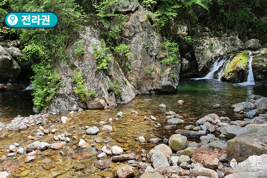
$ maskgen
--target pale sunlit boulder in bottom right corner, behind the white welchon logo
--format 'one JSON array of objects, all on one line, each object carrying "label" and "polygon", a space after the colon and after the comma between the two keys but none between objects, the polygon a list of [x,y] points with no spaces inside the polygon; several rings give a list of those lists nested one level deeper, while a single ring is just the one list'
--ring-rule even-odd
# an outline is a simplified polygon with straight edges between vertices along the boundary
[{"label": "pale sunlit boulder in bottom right corner, behind the white welchon logo", "polygon": [[233,174],[225,178],[263,178],[267,175],[267,155],[252,155],[241,163],[238,163]]}]

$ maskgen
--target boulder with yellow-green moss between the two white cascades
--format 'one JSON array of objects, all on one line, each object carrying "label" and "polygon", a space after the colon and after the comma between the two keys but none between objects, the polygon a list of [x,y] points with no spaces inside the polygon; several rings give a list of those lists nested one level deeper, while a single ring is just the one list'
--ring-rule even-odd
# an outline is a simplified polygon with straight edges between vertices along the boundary
[{"label": "boulder with yellow-green moss between the two white cascades", "polygon": [[[245,82],[249,72],[249,51],[235,54],[222,76],[222,81],[233,83]],[[225,67],[227,64],[225,64]]]}]

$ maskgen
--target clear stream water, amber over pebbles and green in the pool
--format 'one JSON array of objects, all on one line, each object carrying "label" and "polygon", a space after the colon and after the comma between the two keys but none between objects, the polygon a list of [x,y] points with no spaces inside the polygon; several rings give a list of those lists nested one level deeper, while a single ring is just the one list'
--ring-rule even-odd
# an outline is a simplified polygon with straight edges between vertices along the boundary
[{"label": "clear stream water, amber over pebbles and green in the pool", "polygon": [[[53,135],[59,135],[68,132],[78,137],[75,140],[71,137],[71,142],[67,143],[62,149],[66,154],[61,156],[59,150],[38,151],[38,155],[34,161],[24,163],[25,153],[8,157],[1,161],[0,171],[10,171],[13,177],[57,177],[57,178],[76,178],[90,177],[102,178],[112,177],[112,172],[121,167],[121,164],[111,163],[106,169],[96,169],[95,162],[99,159],[97,155],[104,145],[117,145],[123,148],[124,154],[141,153],[144,149],[147,153],[155,144],[140,143],[136,138],[144,136],[148,141],[150,138],[169,138],[174,134],[175,130],[163,130],[156,127],[157,123],[161,126],[168,125],[165,112],[174,111],[184,117],[185,123],[179,125],[179,129],[186,125],[195,125],[198,118],[205,115],[216,113],[219,116],[229,117],[231,120],[242,120],[242,115],[236,115],[231,109],[231,105],[244,101],[250,94],[258,94],[266,96],[266,87],[256,85],[239,85],[228,82],[221,82],[214,79],[202,80],[180,80],[178,91],[173,94],[162,95],[140,95],[137,96],[129,104],[119,106],[114,109],[107,110],[85,110],[81,113],[74,112],[70,115],[68,112],[62,112],[59,115],[51,116],[51,120],[60,120],[65,115],[71,118],[71,123],[66,125],[45,125],[45,129],[52,130],[58,128],[56,134],[45,135],[40,139],[41,142],[55,143]],[[32,101],[29,91],[23,92],[6,92],[0,94],[0,122],[9,123],[17,115],[29,116],[32,112]],[[185,103],[178,104],[177,101],[182,99]],[[161,103],[166,104],[166,109],[158,107]],[[212,109],[214,104],[220,104],[219,109]],[[131,114],[131,111],[137,111],[139,115]],[[117,117],[117,113],[122,111],[123,117],[113,120],[109,123],[110,117]],[[223,112],[225,113],[223,113]],[[153,115],[158,121],[146,121],[144,116]],[[111,125],[114,128],[112,133],[104,133],[101,131],[103,124]],[[85,126],[97,126],[100,131],[97,135],[86,135]],[[34,142],[29,140],[29,135],[34,136],[34,132],[38,126],[30,127],[26,131],[6,132],[7,139],[0,141],[0,157],[7,155],[7,149],[13,142],[17,142],[21,147],[26,147]],[[0,135],[3,132],[0,131]],[[125,142],[119,143],[116,138],[123,139]],[[78,147],[79,139],[84,139],[89,148],[81,149]],[[188,139],[194,141],[193,139]],[[197,140],[196,140],[197,141]],[[110,160],[112,156],[108,156]],[[124,163],[124,162],[122,162]]]}]

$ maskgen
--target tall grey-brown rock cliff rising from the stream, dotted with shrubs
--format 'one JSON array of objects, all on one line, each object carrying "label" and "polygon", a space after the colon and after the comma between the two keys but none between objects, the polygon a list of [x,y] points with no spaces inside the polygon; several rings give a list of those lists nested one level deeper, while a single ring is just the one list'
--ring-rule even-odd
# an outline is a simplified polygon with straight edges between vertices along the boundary
[{"label": "tall grey-brown rock cliff rising from the stream, dotted with shrubs", "polygon": [[[133,55],[127,58],[123,55],[115,56],[107,50],[106,53],[112,54],[114,59],[107,66],[108,69],[96,71],[97,56],[93,54],[93,45],[101,44],[100,30],[97,26],[85,26],[80,32],[80,39],[77,39],[85,41],[85,54],[75,55],[77,46],[73,42],[66,50],[67,62],[55,61],[57,74],[62,76],[61,83],[64,85],[60,87],[60,93],[48,102],[48,110],[103,109],[127,104],[137,94],[175,91],[180,64],[160,63],[168,57],[168,52],[163,51],[161,36],[147,20],[147,12],[140,9],[131,14],[125,23],[124,35],[128,39],[124,38],[122,43],[130,46]],[[125,68],[126,61],[131,66],[131,72]],[[95,91],[95,97],[87,97],[85,102],[74,92],[72,74],[76,68],[82,71],[86,87]],[[122,90],[121,94],[115,94],[111,84]]]}]

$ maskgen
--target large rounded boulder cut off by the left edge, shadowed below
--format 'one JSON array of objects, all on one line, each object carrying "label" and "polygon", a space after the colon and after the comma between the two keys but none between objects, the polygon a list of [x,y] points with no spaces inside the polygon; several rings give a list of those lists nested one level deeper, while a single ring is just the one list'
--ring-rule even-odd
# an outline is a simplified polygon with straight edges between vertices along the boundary
[{"label": "large rounded boulder cut off by the left edge, shadowed below", "polygon": [[3,78],[15,78],[20,74],[20,66],[11,55],[0,46],[0,75]]}]

